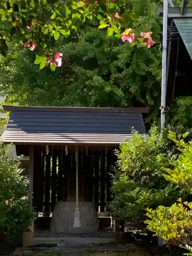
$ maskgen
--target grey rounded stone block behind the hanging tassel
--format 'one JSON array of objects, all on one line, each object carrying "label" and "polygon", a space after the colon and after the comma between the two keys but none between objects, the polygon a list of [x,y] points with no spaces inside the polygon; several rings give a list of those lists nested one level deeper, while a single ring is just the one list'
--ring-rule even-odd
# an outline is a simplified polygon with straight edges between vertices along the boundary
[{"label": "grey rounded stone block behind the hanging tassel", "polygon": [[89,233],[99,228],[99,220],[94,202],[79,202],[81,227],[74,228],[75,202],[56,203],[50,225],[53,233]]}]

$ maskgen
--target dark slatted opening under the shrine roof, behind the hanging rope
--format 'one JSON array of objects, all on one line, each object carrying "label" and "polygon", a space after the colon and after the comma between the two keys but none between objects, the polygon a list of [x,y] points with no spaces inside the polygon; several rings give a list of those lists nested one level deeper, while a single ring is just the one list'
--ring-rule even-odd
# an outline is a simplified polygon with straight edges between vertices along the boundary
[{"label": "dark slatted opening under the shrine roof, behind the hanging rope", "polygon": [[[112,200],[112,165],[115,148],[79,147],[79,201],[95,202],[108,211]],[[57,201],[75,202],[75,149],[68,146],[34,146],[33,206],[38,216],[49,217]]]}]

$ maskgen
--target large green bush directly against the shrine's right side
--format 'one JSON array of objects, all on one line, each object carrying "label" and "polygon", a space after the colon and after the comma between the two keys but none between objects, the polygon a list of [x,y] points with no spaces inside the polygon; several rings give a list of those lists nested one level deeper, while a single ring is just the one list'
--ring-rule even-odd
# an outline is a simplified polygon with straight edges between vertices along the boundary
[{"label": "large green bush directly against the shrine's right side", "polygon": [[111,209],[115,215],[143,223],[147,207],[169,206],[180,195],[178,186],[164,177],[163,169],[171,168],[175,161],[173,150],[167,150],[167,146],[167,138],[157,127],[146,138],[134,132],[132,140],[120,144],[112,186]]}]

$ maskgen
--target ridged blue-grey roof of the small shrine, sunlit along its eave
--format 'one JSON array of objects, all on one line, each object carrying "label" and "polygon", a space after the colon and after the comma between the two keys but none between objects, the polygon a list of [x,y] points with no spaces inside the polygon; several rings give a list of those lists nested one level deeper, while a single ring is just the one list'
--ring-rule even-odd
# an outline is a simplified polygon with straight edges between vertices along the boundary
[{"label": "ridged blue-grey roof of the small shrine, sunlit along its eave", "polygon": [[4,143],[40,145],[118,145],[145,136],[147,108],[77,108],[3,105],[10,111]]}]

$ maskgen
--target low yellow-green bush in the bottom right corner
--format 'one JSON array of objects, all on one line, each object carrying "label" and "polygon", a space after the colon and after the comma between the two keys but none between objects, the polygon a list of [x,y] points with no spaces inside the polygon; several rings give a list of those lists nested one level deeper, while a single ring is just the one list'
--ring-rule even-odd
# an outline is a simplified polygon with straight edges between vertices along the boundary
[{"label": "low yellow-green bush in the bottom right corner", "polygon": [[[185,205],[186,204],[186,205]],[[187,203],[175,203],[170,207],[159,206],[156,210],[147,209],[148,229],[154,231],[164,241],[178,246],[192,246],[192,212]],[[188,205],[191,208],[191,205]]]}]

